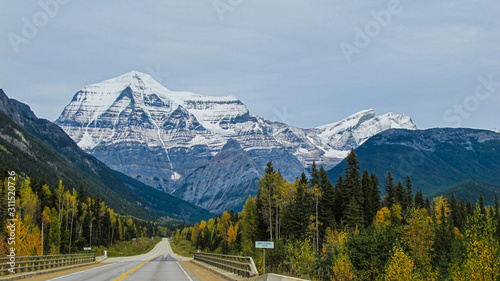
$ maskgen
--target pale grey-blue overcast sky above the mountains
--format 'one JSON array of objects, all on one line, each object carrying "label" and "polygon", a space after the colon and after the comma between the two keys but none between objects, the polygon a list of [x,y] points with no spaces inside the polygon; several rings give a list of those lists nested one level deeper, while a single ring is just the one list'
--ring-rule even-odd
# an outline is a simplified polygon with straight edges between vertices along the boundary
[{"label": "pale grey-blue overcast sky above the mountains", "polygon": [[500,128],[497,0],[1,0],[0,10],[0,88],[49,120],[85,85],[137,70],[303,128],[368,108],[419,128]]}]

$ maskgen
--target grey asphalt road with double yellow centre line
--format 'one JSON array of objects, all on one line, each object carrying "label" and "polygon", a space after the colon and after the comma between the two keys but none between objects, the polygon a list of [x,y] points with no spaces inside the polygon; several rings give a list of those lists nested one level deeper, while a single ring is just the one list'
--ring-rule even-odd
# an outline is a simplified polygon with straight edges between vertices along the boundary
[{"label": "grey asphalt road with double yellow centre line", "polygon": [[193,274],[184,270],[167,239],[163,239],[149,253],[126,258],[109,258],[100,267],[72,273],[50,280],[57,281],[121,281],[121,280],[172,280],[199,281]]}]

